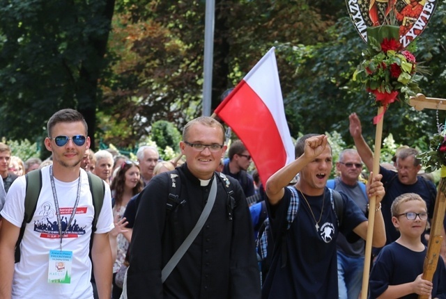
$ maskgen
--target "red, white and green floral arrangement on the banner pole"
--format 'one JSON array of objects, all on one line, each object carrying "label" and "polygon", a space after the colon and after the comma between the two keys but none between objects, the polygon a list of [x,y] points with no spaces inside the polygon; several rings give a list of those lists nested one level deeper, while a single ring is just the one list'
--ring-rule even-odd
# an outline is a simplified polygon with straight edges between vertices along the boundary
[{"label": "red, white and green floral arrangement on the banner pole", "polygon": [[[353,81],[364,83],[376,97],[376,104],[384,106],[399,100],[408,102],[410,96],[421,92],[417,61],[413,53],[399,43],[399,26],[382,25],[367,28],[368,47],[362,52],[364,60],[353,74]],[[415,49],[415,44],[409,45]]]}]

